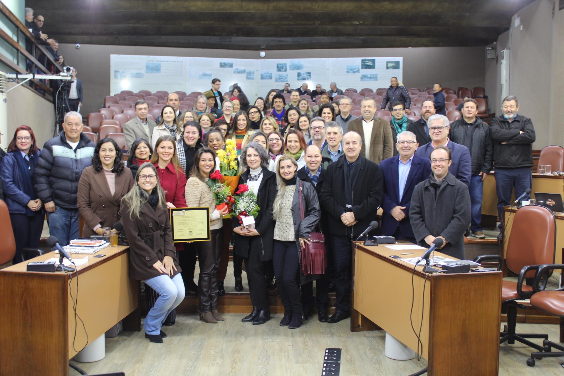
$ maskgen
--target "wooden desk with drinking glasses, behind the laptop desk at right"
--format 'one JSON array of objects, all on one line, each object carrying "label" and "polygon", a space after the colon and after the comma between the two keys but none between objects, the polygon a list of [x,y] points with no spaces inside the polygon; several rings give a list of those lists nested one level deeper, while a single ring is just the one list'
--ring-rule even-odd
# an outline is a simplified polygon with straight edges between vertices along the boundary
[{"label": "wooden desk with drinking glasses, behind the laptop desk at right", "polygon": [[[531,196],[535,192],[564,194],[564,176],[532,174]],[[512,200],[515,200],[513,195]],[[492,172],[484,181],[482,195],[482,214],[497,216],[497,193],[495,189],[495,172]]]}]

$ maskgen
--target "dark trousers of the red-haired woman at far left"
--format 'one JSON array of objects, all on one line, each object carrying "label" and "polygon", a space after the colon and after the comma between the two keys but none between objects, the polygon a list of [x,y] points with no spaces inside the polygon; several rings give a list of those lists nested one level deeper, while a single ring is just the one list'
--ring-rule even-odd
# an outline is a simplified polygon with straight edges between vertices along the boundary
[{"label": "dark trousers of the red-haired woman at far left", "polygon": [[45,213],[43,213],[43,210],[39,210],[33,216],[10,214],[10,220],[16,241],[16,254],[12,263],[17,264],[24,261],[21,249],[37,249],[39,247],[39,238],[41,238],[43,223],[45,223]]}]

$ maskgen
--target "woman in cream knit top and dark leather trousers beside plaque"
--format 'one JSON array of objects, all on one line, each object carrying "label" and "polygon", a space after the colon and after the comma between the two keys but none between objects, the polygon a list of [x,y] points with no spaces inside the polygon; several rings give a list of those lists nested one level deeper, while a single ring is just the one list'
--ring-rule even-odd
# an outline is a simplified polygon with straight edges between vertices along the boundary
[{"label": "woman in cream knit top and dark leather trousers beside plaque", "polygon": [[210,241],[196,242],[200,277],[198,280],[198,312],[200,320],[208,324],[217,324],[223,317],[217,311],[218,281],[217,272],[221,261],[223,245],[222,217],[229,213],[228,206],[219,210],[215,207],[215,197],[211,187],[217,182],[210,180],[215,171],[215,153],[204,147],[196,152],[194,166],[186,183],[186,204],[188,207],[209,207]]}]

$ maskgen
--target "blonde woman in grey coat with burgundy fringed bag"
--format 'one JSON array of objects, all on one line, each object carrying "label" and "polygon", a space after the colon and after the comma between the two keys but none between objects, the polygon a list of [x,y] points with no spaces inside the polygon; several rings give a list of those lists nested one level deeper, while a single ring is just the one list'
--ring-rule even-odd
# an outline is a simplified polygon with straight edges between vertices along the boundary
[{"label": "blonde woman in grey coat with burgundy fringed bag", "polygon": [[272,266],[276,287],[284,305],[284,317],[280,326],[288,326],[290,329],[299,328],[303,322],[298,276],[301,284],[315,279],[314,276],[303,275],[299,267],[299,256],[305,245],[310,244],[310,233],[321,217],[315,187],[311,183],[302,182],[296,175],[297,170],[298,163],[292,156],[284,155],[277,160],[278,193],[272,204],[272,215],[276,221]]}]

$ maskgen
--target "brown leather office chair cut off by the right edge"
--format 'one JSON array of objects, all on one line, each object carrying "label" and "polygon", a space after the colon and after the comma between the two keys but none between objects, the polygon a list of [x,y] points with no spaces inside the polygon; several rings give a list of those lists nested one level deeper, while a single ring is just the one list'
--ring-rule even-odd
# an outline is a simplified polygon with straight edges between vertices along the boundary
[{"label": "brown leather office chair cut off by the right edge", "polygon": [[[564,342],[562,338],[564,331],[564,287],[554,290],[546,289],[550,273],[554,270],[564,273],[564,264],[544,264],[539,267],[539,271],[536,272],[535,280],[532,283],[534,294],[530,302],[531,306],[539,309],[539,311],[560,318],[561,334],[559,340]],[[556,347],[560,351],[552,351],[552,347]],[[543,352],[532,352],[531,357],[527,359],[527,365],[534,366],[535,359],[561,356],[564,356],[564,347],[561,344],[545,339],[543,340]]]}]

